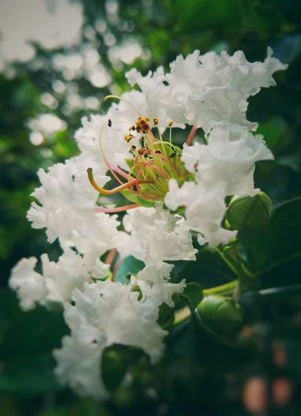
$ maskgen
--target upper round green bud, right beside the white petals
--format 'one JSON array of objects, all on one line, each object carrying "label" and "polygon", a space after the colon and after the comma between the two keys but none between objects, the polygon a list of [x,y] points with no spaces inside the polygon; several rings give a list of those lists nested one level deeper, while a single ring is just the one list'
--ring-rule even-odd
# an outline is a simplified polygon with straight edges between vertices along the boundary
[{"label": "upper round green bud, right beside the white petals", "polygon": [[272,212],[272,201],[259,191],[255,196],[233,197],[226,210],[226,220],[233,229],[262,228],[268,225]]}]

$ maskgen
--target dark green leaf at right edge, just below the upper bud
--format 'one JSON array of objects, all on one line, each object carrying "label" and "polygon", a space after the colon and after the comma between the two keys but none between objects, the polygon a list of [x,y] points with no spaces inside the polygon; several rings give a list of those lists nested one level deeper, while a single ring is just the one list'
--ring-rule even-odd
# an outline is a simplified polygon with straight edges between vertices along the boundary
[{"label": "dark green leaf at right edge, just below the upper bud", "polygon": [[239,231],[241,251],[251,272],[264,272],[301,257],[301,197],[275,208],[267,229]]}]

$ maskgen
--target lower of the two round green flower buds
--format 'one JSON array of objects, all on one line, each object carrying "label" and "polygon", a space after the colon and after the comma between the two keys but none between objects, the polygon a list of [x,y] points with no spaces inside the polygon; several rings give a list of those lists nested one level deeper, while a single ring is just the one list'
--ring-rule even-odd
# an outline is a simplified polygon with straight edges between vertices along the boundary
[{"label": "lower of the two round green flower buds", "polygon": [[197,306],[203,322],[213,331],[232,336],[243,322],[241,307],[231,297],[208,295]]}]

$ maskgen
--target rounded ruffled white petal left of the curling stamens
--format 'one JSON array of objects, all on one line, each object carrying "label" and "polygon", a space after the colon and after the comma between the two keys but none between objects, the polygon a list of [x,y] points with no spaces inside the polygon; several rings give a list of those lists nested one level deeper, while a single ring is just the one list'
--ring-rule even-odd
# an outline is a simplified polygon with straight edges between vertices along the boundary
[{"label": "rounded ruffled white petal left of the curling stamens", "polygon": [[[73,230],[84,224],[84,218],[93,217],[93,207],[98,193],[89,185],[86,168],[91,160],[82,156],[69,159],[65,164],[55,164],[49,168],[39,170],[39,180],[42,187],[35,189],[32,196],[38,201],[33,202],[28,211],[28,219],[34,228],[47,228],[48,241],[53,242],[57,237],[71,239]],[[98,180],[105,184],[109,177],[98,173]]]}]

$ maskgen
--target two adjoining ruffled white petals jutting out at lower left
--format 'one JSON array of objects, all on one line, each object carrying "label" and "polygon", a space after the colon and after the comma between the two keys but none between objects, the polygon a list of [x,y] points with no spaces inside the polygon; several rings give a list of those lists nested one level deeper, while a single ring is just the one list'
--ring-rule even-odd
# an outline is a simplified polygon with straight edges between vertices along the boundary
[{"label": "two adjoining ruffled white petals jutting out at lower left", "polygon": [[100,266],[99,259],[91,269],[89,262],[69,247],[64,248],[57,263],[50,261],[47,254],[42,254],[41,260],[42,274],[35,271],[35,257],[21,259],[12,270],[9,284],[17,289],[20,305],[24,310],[32,309],[35,302],[46,306],[52,302],[70,302],[74,288],[82,291],[86,281],[91,277],[104,278],[109,269],[103,263]]}]

